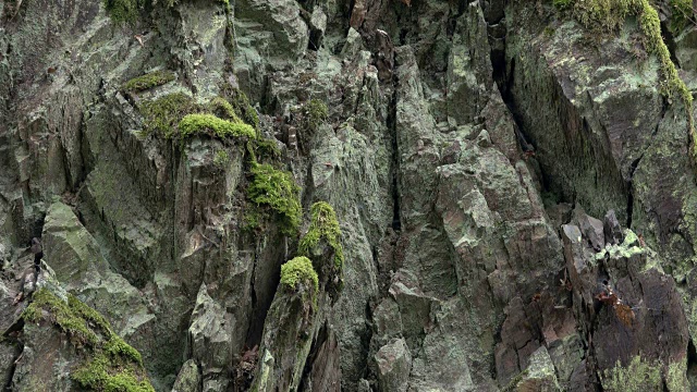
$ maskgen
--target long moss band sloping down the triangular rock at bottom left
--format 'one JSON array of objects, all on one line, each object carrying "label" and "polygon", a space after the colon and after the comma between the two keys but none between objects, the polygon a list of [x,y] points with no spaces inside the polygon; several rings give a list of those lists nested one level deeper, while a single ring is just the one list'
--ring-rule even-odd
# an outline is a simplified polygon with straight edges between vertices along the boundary
[{"label": "long moss band sloping down the triangular rock at bottom left", "polygon": [[63,302],[46,287],[32,296],[24,310],[26,321],[46,319],[71,336],[87,359],[71,372],[83,389],[106,392],[155,392],[148,381],[140,353],[123,341],[109,322],[75,296]]}]

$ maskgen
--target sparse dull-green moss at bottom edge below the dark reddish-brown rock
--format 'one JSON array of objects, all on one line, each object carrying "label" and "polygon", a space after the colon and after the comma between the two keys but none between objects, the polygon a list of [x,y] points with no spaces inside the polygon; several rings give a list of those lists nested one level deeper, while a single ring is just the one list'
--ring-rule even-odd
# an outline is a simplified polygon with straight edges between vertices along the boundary
[{"label": "sparse dull-green moss at bottom edge below the dark reddish-brown rock", "polygon": [[600,381],[609,392],[661,391],[661,363],[645,360],[639,355],[632,358],[627,366],[622,366],[617,360],[614,368],[600,375]]}]

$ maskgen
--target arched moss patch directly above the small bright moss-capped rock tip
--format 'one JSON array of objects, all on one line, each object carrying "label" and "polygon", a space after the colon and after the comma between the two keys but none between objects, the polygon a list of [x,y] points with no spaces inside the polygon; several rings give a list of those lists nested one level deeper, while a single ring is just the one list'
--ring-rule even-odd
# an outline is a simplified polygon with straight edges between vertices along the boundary
[{"label": "arched moss patch directly above the small bright moss-capped rock tip", "polygon": [[344,249],[341,245],[341,229],[334,209],[326,201],[317,201],[310,208],[310,216],[309,229],[301,240],[298,254],[309,257],[320,240],[325,240],[334,250],[334,267],[339,271],[343,270]]}]

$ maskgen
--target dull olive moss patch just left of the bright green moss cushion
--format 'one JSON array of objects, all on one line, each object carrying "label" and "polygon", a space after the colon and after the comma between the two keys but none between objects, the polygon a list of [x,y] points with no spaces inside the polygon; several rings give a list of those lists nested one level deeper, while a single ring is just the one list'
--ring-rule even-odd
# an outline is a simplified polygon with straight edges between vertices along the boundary
[{"label": "dull olive moss patch just left of the bright green moss cushion", "polygon": [[199,108],[194,103],[192,97],[182,93],[174,93],[156,100],[143,102],[139,109],[145,118],[143,131],[146,135],[157,133],[164,137],[172,137],[175,133],[176,124],[184,115]]}]

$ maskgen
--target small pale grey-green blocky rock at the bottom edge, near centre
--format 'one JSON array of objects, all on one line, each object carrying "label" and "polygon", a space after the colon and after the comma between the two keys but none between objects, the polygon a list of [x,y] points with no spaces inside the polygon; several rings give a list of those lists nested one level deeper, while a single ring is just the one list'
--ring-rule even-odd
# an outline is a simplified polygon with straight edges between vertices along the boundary
[{"label": "small pale grey-green blocky rock at the bottom edge, near centre", "polygon": [[375,355],[380,391],[406,392],[412,369],[412,354],[403,339],[392,340]]}]

